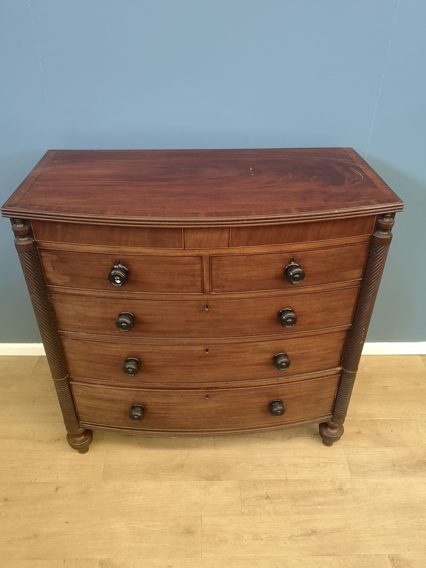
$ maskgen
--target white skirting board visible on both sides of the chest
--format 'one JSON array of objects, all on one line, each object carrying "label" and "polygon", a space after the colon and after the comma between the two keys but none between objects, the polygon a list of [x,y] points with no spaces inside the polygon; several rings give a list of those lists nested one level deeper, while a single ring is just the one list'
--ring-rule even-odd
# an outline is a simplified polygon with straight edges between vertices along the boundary
[{"label": "white skirting board visible on both sides of the chest", "polygon": [[[426,341],[406,343],[366,343],[363,355],[424,355]],[[0,343],[1,355],[44,355],[43,343]]]}]

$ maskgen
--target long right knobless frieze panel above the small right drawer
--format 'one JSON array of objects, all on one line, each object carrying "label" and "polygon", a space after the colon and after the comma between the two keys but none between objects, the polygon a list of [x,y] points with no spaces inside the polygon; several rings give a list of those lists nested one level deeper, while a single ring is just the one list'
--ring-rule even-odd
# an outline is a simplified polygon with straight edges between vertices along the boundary
[{"label": "long right knobless frieze panel above the small right drawer", "polygon": [[289,223],[262,227],[232,227],[231,247],[260,247],[286,243],[308,243],[326,239],[342,239],[371,235],[375,216],[320,221],[318,223]]}]

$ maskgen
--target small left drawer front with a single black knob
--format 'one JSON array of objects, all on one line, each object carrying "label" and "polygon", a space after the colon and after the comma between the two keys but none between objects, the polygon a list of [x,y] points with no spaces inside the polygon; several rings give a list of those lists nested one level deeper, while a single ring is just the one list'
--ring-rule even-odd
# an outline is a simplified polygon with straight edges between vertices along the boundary
[{"label": "small left drawer front with a single black knob", "polygon": [[[39,249],[48,286],[86,290],[201,294],[202,257],[148,254],[87,253]],[[108,281],[110,270],[121,261],[129,275],[124,286]]]}]

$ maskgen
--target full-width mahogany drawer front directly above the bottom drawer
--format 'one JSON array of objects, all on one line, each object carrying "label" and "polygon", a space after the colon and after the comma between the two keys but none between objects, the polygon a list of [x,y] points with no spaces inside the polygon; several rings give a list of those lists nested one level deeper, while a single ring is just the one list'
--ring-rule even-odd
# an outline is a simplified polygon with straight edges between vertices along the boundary
[{"label": "full-width mahogany drawer front directly above the bottom drawer", "polygon": [[[286,340],[220,341],[205,344],[144,344],[89,341],[62,337],[73,377],[144,384],[197,384],[283,378],[340,366],[346,330]],[[273,357],[286,353],[287,370],[275,368]],[[127,358],[140,361],[135,376],[123,371]]]}]

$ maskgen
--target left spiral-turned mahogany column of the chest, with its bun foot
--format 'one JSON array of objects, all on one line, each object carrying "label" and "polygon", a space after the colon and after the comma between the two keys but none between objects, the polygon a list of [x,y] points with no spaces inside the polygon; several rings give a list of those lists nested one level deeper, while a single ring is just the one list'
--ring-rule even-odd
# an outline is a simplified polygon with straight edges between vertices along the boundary
[{"label": "left spiral-turned mahogany column of the chest, with its bun foot", "polygon": [[65,428],[68,432],[66,440],[72,448],[83,454],[89,449],[92,431],[80,428],[78,422],[76,407],[69,386],[64,352],[62,351],[55,314],[45,284],[36,243],[30,234],[30,227],[22,219],[12,219],[12,231],[15,234],[15,247],[18,251],[20,265],[30,293],[41,340],[64,417]]}]

